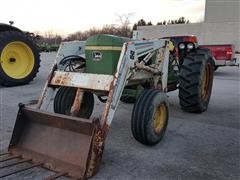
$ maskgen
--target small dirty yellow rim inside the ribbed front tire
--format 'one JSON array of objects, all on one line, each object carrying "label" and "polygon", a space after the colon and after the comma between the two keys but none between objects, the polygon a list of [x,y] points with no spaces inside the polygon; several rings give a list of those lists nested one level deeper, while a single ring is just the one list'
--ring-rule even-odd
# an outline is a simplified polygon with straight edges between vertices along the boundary
[{"label": "small dirty yellow rim inside the ribbed front tire", "polygon": [[157,134],[160,134],[167,119],[167,108],[165,104],[161,104],[154,113],[153,127]]}]

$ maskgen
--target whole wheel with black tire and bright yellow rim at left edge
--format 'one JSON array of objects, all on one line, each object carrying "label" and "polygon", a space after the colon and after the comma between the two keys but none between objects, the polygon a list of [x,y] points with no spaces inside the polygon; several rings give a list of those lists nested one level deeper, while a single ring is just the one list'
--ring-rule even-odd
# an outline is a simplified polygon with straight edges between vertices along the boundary
[{"label": "whole wheel with black tire and bright yellow rim at left edge", "polygon": [[17,86],[34,79],[40,55],[33,40],[22,32],[0,33],[0,84]]}]

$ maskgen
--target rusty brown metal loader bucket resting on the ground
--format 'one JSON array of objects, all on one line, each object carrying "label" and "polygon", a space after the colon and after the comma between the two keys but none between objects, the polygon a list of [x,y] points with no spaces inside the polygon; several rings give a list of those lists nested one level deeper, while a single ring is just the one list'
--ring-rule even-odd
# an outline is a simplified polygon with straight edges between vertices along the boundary
[{"label": "rusty brown metal loader bucket resting on the ground", "polygon": [[96,173],[102,155],[101,150],[96,157],[94,145],[97,144],[95,140],[99,139],[96,138],[100,127],[98,119],[82,119],[19,107],[9,145],[10,153],[77,179]]}]

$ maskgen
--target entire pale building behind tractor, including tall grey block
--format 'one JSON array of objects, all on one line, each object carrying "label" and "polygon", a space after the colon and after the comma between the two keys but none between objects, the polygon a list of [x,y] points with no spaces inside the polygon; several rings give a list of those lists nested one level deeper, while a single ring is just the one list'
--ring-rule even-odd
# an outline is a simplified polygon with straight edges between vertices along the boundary
[{"label": "entire pale building behind tractor, including tall grey block", "polygon": [[199,44],[235,44],[240,51],[240,0],[206,0],[205,22],[139,26],[144,38],[196,35]]}]

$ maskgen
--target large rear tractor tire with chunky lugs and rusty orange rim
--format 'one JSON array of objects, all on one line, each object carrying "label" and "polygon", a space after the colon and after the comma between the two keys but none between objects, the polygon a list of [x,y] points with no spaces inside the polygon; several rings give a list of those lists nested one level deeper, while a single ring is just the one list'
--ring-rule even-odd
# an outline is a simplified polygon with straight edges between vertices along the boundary
[{"label": "large rear tractor tire with chunky lugs and rusty orange rim", "polygon": [[183,60],[179,76],[182,110],[201,113],[207,110],[213,85],[214,62],[207,49],[197,49]]}]

